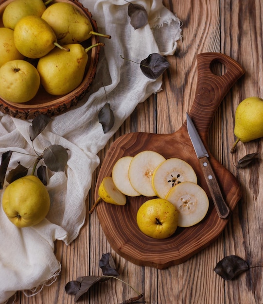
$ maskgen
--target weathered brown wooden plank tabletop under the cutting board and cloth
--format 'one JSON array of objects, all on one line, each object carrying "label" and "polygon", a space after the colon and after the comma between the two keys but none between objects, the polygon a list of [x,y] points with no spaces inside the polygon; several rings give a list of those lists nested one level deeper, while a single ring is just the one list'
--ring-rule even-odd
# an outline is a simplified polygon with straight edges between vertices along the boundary
[{"label": "weathered brown wooden plank tabletop under the cutting board and cloth", "polygon": [[[214,243],[183,264],[165,270],[136,266],[120,257],[105,238],[96,211],[90,217],[87,211],[78,238],[70,246],[61,241],[55,243],[55,254],[62,265],[56,282],[33,297],[18,293],[15,303],[74,303],[74,297],[65,292],[66,283],[78,276],[101,275],[99,259],[107,252],[112,254],[123,280],[144,294],[138,303],[263,303],[261,267],[252,268],[232,281],[224,281],[213,271],[216,263],[230,254],[244,258],[250,266],[263,265],[262,140],[239,143],[235,154],[229,152],[235,140],[238,103],[250,96],[263,97],[263,3],[262,0],[163,0],[163,3],[182,21],[183,34],[175,55],[168,56],[171,68],[163,75],[163,90],[138,105],[99,156],[103,160],[111,143],[122,134],[135,131],[167,134],[178,130],[194,97],[196,55],[222,52],[239,62],[245,75],[215,113],[209,147],[213,156],[236,176],[243,198]],[[253,166],[237,169],[238,159],[252,152],[259,152],[259,160]],[[87,209],[94,201],[98,172],[99,168],[94,172]],[[110,280],[91,288],[78,303],[120,304],[134,296],[136,293],[130,287]]]}]

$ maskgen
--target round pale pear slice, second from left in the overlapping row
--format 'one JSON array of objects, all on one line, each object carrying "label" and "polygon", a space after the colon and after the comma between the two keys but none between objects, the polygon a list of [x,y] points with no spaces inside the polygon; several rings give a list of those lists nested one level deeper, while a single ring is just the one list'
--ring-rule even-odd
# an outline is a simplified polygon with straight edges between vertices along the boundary
[{"label": "round pale pear slice, second from left in the overlapping row", "polygon": [[129,179],[133,188],[144,196],[156,196],[152,186],[154,170],[165,158],[155,151],[142,151],[131,160],[129,167]]}]

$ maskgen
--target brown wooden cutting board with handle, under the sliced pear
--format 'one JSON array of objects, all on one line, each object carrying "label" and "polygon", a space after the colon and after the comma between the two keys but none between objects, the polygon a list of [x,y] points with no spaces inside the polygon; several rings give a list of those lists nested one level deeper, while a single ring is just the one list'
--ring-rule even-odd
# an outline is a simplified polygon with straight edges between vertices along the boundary
[{"label": "brown wooden cutting board with handle, under the sliced pear", "polygon": [[[226,72],[222,76],[212,73],[210,67],[214,62],[225,66]],[[227,55],[221,53],[197,55],[197,86],[189,115],[206,147],[210,124],[218,106],[244,72],[244,69]],[[136,222],[137,210],[150,198],[127,197],[124,206],[102,202],[96,210],[105,236],[116,253],[134,264],[164,269],[186,261],[210,245],[222,233],[229,217],[221,219],[217,215],[189,138],[186,122],[173,134],[136,132],[125,134],[114,141],[105,155],[98,175],[95,199],[98,197],[98,187],[102,179],[111,175],[118,159],[127,155],[135,156],[145,150],[156,151],[165,158],[181,158],[193,167],[198,184],[205,189],[210,199],[210,207],[205,219],[189,228],[178,227],[175,234],[167,239],[154,239],[141,233]],[[208,147],[207,150],[223,196],[232,212],[241,199],[239,183],[232,173],[211,155]]]}]

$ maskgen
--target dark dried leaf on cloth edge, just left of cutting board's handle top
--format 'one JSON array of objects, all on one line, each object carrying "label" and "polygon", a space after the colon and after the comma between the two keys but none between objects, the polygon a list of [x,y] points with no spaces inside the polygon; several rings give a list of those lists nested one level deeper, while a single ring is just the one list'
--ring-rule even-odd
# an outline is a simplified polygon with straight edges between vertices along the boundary
[{"label": "dark dried leaf on cloth edge, just left of cutting board's handle top", "polygon": [[169,67],[170,63],[158,53],[150,54],[140,62],[142,73],[150,79],[157,79]]}]

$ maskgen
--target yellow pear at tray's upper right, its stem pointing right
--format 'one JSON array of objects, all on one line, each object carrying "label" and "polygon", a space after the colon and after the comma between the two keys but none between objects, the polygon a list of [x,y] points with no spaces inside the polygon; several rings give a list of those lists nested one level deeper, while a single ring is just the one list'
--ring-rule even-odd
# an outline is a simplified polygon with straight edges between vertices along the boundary
[{"label": "yellow pear at tray's upper right, its stem pointing right", "polygon": [[89,19],[75,5],[68,2],[50,5],[42,18],[52,27],[60,44],[80,43],[92,34],[110,38],[109,35],[93,32]]}]

